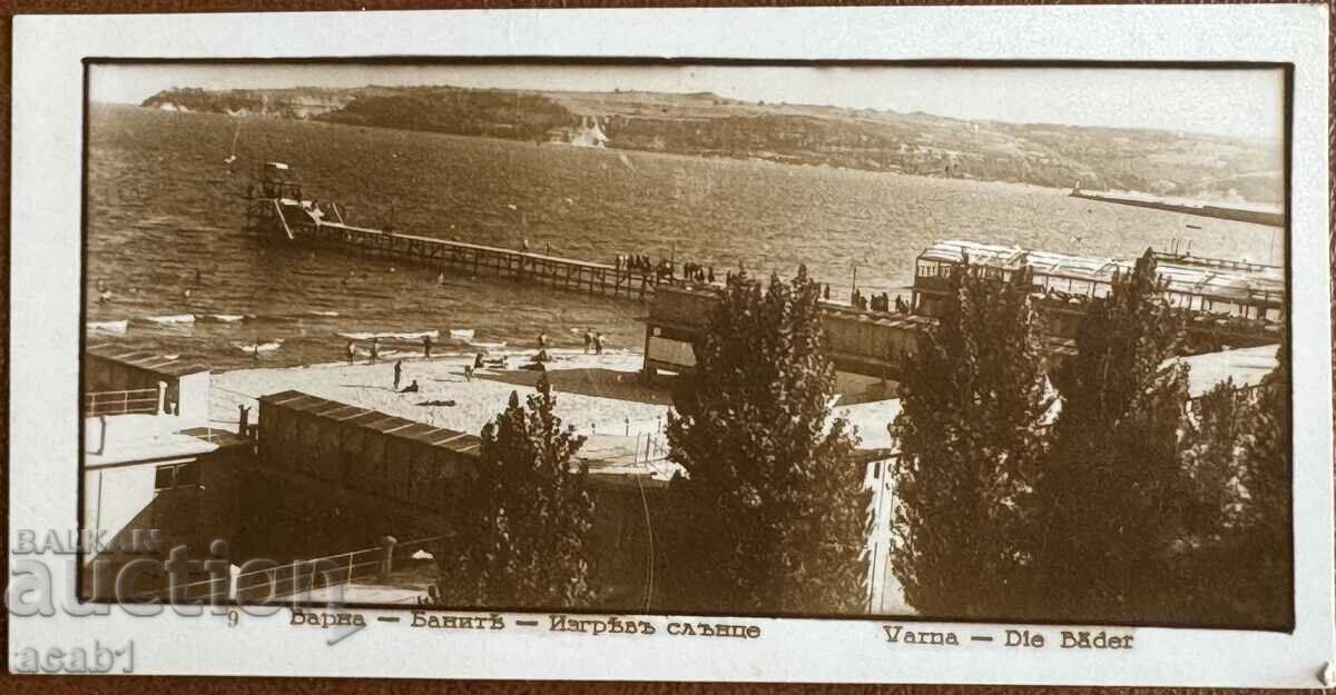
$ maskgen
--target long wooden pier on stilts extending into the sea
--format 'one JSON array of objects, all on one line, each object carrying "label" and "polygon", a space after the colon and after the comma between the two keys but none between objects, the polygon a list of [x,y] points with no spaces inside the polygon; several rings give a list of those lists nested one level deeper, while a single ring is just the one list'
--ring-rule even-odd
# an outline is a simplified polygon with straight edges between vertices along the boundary
[{"label": "long wooden pier on stilts extending into the sea", "polygon": [[[297,205],[290,207],[297,208]],[[655,287],[659,284],[688,284],[681,277],[608,263],[387,232],[341,221],[315,221],[305,211],[299,208],[298,211],[301,219],[294,219],[295,215],[289,211],[278,215],[281,229],[291,240],[391,257],[438,268],[441,272],[453,269],[474,276],[494,275],[512,277],[520,283],[641,301],[653,297]]]}]

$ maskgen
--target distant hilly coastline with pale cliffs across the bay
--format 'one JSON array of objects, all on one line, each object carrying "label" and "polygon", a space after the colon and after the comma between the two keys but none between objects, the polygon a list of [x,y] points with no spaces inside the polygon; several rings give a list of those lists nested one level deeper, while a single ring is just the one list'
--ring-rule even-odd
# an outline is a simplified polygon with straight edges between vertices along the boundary
[{"label": "distant hilly coastline with pale cliffs across the bay", "polygon": [[[927,113],[748,103],[713,93],[456,87],[206,91],[142,107],[484,136],[545,144],[591,119],[603,147],[1009,181],[1067,189],[1280,203],[1280,148],[1220,135],[969,121]],[[1275,149],[1275,151],[1272,151]]]}]

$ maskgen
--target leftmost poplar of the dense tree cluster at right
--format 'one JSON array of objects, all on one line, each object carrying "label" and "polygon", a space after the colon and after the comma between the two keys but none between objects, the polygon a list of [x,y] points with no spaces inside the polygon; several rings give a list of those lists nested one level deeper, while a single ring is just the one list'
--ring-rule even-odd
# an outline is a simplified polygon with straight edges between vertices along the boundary
[{"label": "leftmost poplar of the dense tree cluster at right", "polygon": [[1053,394],[1029,271],[963,265],[937,327],[903,359],[891,563],[923,614],[1019,616],[1030,486]]}]

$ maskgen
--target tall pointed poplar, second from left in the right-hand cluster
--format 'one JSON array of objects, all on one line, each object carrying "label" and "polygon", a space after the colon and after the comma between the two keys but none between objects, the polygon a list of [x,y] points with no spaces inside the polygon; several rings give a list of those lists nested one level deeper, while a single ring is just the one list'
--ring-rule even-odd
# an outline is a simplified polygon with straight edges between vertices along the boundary
[{"label": "tall pointed poplar, second from left in the right-hand cluster", "polygon": [[1061,620],[1180,616],[1176,554],[1192,496],[1184,450],[1184,315],[1150,249],[1092,300],[1077,354],[1057,370],[1062,410],[1035,492],[1045,522],[1033,614]]}]

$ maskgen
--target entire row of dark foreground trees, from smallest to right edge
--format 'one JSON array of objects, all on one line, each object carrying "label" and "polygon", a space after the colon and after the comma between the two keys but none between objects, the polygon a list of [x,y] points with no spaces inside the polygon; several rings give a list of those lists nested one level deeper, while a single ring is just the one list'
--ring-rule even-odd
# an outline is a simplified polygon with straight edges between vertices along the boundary
[{"label": "entire row of dark foreground trees, from smallest to right edge", "polygon": [[[685,476],[659,536],[655,610],[860,612],[870,492],[832,418],[819,283],[739,275],[669,415]],[[1188,403],[1185,319],[1150,253],[1090,305],[1049,363],[1030,277],[951,277],[939,325],[904,356],[891,432],[895,575],[925,615],[1291,623],[1285,363],[1252,394]],[[1284,350],[1279,351],[1281,359]],[[460,606],[597,604],[582,443],[546,380],[482,432],[480,480],[441,555]]]}]

